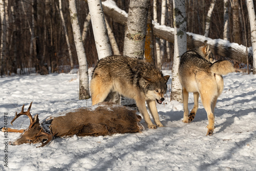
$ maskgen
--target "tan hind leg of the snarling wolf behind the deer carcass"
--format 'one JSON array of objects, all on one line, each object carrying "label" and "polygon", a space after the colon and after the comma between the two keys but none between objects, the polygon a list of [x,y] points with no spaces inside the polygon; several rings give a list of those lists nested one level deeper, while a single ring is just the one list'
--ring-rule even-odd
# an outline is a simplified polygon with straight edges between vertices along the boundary
[{"label": "tan hind leg of the snarling wolf behind the deer carcass", "polygon": [[108,97],[112,87],[111,82],[94,77],[91,80],[92,105],[103,102]]}]

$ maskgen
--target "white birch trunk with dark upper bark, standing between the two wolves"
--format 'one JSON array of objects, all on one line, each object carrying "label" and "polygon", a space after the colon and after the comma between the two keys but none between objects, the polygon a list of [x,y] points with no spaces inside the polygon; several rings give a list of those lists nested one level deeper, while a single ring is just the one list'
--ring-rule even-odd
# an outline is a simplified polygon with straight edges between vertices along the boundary
[{"label": "white birch trunk with dark upper bark, standing between the two wolves", "polygon": [[174,63],[170,98],[182,102],[182,87],[179,81],[178,69],[180,56],[187,50],[185,0],[174,0],[174,29]]}]

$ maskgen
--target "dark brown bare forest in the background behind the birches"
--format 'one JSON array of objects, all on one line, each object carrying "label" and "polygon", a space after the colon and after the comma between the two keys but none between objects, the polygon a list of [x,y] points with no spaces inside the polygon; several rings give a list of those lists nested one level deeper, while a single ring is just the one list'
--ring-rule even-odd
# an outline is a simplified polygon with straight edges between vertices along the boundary
[{"label": "dark brown bare forest in the background behind the birches", "polygon": [[[60,3],[67,33],[63,29],[60,15]],[[102,1],[104,2],[104,1]],[[207,12],[211,1],[186,0],[187,32],[204,35]],[[210,19],[208,37],[223,39],[224,3],[217,0]],[[244,0],[226,1],[228,4],[228,37],[230,42],[251,47],[250,25],[246,2]],[[129,0],[115,0],[116,5],[128,12]],[[173,28],[173,1],[165,0],[166,10],[162,11],[162,1],[156,1],[157,19],[161,25]],[[256,1],[253,1],[254,7]],[[81,32],[89,13],[87,1],[77,0],[77,13]],[[152,1],[153,6],[153,1]],[[1,1],[1,76],[13,74],[49,74],[69,72],[78,68],[77,52],[74,43],[69,1],[27,0]],[[154,11],[154,8],[152,8]],[[155,12],[155,11],[154,11]],[[164,23],[161,17],[165,16]],[[3,16],[1,15],[1,16]],[[111,15],[106,15],[111,30],[114,33],[120,54],[123,51],[125,26],[115,22]],[[3,20],[5,19],[5,20]],[[162,22],[162,23],[161,23]],[[3,27],[5,25],[5,27]],[[5,32],[4,32],[5,31]],[[3,37],[5,33],[5,37]],[[68,36],[69,52],[66,35]],[[157,37],[154,39],[158,40]],[[97,60],[97,50],[91,22],[86,38],[83,39],[88,67],[94,67]],[[158,49],[155,48],[155,58]],[[71,54],[70,54],[71,53]],[[161,55],[162,69],[172,69],[174,45],[164,42]],[[218,57],[218,56],[217,56]],[[159,59],[158,59],[159,60]],[[71,65],[71,61],[73,64]],[[157,63],[157,60],[156,60]],[[234,61],[238,67],[243,67],[241,61]],[[249,64],[252,65],[251,61]]]}]

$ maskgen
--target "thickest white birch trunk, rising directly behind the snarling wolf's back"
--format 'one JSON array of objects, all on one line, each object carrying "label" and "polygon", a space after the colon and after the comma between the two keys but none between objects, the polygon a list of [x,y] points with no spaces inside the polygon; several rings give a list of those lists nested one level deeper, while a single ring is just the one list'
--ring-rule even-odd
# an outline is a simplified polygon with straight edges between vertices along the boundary
[{"label": "thickest white birch trunk, rising directly behind the snarling wolf's back", "polygon": [[143,59],[150,0],[131,0],[124,33],[123,55]]}]

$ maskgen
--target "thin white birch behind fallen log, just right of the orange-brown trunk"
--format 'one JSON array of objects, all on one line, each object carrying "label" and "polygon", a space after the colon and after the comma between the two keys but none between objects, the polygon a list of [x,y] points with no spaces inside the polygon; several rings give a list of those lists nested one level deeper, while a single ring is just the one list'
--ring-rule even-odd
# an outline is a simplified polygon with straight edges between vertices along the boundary
[{"label": "thin white birch behind fallen log, just right of the orange-brown trunk", "polygon": [[[157,19],[157,0],[154,0],[153,2],[153,9],[154,9],[154,17],[153,20],[158,23]],[[162,67],[162,62],[161,62],[161,55],[160,55],[160,39],[158,37],[156,39],[156,56],[157,56],[157,68],[161,69]]]}]

